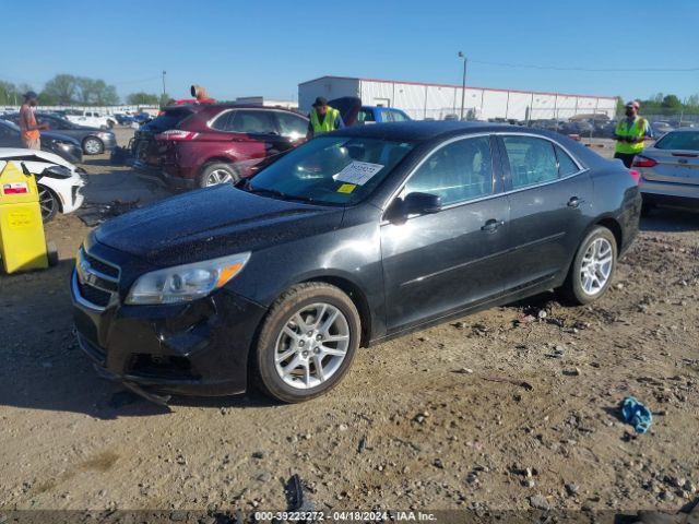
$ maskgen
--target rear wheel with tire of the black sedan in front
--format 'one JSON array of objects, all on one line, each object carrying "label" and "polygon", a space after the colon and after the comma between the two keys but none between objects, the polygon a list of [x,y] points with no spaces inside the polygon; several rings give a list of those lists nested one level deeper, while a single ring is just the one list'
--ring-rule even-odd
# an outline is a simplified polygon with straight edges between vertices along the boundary
[{"label": "rear wheel with tire of the black sedan in front", "polygon": [[614,278],[617,249],[616,238],[606,227],[597,226],[590,231],[580,242],[561,288],[565,298],[585,305],[602,297]]}]

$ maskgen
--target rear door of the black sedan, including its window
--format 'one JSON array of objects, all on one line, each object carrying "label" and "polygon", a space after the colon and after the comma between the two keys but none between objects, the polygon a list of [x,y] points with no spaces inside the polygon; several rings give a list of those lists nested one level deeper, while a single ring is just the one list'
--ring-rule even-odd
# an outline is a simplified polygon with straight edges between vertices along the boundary
[{"label": "rear door of the black sedan, including its window", "polygon": [[560,144],[526,134],[499,136],[510,205],[506,290],[534,286],[567,267],[591,209],[592,180]]}]

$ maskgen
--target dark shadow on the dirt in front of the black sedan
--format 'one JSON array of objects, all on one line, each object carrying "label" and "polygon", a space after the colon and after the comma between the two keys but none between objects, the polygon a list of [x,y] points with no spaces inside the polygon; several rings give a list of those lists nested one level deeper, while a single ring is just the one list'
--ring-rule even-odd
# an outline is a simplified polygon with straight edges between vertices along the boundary
[{"label": "dark shadow on the dirt in front of the black sedan", "polygon": [[0,406],[85,414],[97,419],[165,415],[177,407],[275,405],[252,393],[173,397],[162,406],[99,378],[73,332],[69,278],[74,259],[45,271],[0,274]]}]

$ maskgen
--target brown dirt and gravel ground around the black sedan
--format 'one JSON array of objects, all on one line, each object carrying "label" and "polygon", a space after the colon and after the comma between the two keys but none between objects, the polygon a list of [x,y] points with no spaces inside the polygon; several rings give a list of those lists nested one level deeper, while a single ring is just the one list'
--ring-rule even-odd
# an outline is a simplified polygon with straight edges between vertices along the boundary
[{"label": "brown dirt and gravel ground around the black sedan", "polygon": [[[126,132],[121,139],[126,138]],[[167,195],[88,157],[91,203]],[[59,217],[58,267],[0,276],[0,510],[676,511],[699,483],[699,219],[661,210],[592,307],[553,294],[363,350],[330,395],[152,405],[99,380],[68,278],[88,233]],[[511,380],[502,382],[500,379]],[[617,405],[654,413],[636,437]]]}]

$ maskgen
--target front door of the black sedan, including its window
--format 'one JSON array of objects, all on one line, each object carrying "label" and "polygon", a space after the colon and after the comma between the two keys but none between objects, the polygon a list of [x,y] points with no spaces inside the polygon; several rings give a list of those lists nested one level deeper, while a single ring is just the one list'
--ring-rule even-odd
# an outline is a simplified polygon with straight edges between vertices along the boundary
[{"label": "front door of the black sedan, including its window", "polygon": [[437,194],[441,211],[381,226],[389,331],[502,290],[509,207],[490,141],[487,135],[459,139],[433,152],[399,198]]}]

